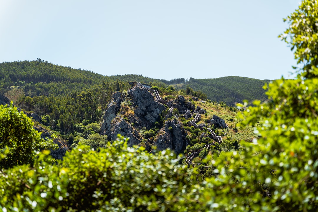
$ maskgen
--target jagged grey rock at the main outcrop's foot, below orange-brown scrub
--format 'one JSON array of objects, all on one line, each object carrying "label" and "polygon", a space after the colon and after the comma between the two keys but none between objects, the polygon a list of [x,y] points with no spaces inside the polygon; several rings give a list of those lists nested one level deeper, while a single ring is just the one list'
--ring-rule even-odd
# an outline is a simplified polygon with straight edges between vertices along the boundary
[{"label": "jagged grey rock at the main outcrop's foot, below orange-brown scrub", "polygon": [[110,140],[116,140],[117,135],[121,134],[125,137],[129,137],[128,146],[138,145],[141,143],[141,139],[138,136],[138,132],[134,130],[130,124],[128,124],[123,118],[117,116],[111,123],[111,131],[109,133]]}]

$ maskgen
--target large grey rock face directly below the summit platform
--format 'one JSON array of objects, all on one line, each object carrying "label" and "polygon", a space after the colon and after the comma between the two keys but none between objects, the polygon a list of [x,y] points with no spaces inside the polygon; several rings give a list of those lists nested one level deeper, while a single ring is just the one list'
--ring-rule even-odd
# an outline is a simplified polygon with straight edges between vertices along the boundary
[{"label": "large grey rock face directly below the summit platform", "polygon": [[135,106],[135,116],[140,128],[146,127],[149,129],[152,127],[162,111],[166,109],[164,105],[156,102],[154,96],[143,87],[133,87],[128,91],[128,95],[132,97]]}]

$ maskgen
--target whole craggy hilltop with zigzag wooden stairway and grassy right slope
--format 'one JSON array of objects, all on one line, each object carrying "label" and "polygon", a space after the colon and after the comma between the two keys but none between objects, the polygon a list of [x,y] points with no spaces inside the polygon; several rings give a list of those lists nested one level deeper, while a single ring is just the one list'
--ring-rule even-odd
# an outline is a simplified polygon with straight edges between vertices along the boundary
[{"label": "whole craggy hilltop with zigzag wooden stairway and grassy right slope", "polygon": [[[185,162],[202,164],[208,154],[217,157],[222,151],[239,150],[240,140],[257,137],[253,127],[244,131],[236,127],[237,113],[237,108],[176,92],[172,86],[164,89],[135,83],[127,91],[113,94],[100,134],[110,141],[121,134],[129,138],[128,146],[142,146],[150,152],[170,148],[192,156]],[[204,149],[206,145],[209,148]]]}]

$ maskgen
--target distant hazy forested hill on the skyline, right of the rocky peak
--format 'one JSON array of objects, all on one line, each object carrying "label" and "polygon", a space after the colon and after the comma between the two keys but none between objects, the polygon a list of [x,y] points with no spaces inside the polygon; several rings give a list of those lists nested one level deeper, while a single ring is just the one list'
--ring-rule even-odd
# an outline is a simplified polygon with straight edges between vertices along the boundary
[{"label": "distant hazy forested hill on the skyline, right of the rocky peak", "polygon": [[193,90],[200,90],[206,93],[208,99],[216,102],[225,102],[233,106],[235,102],[247,99],[253,101],[267,99],[263,86],[270,80],[259,80],[246,77],[221,77],[215,79],[194,79],[190,78],[185,88],[189,85]]}]

